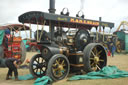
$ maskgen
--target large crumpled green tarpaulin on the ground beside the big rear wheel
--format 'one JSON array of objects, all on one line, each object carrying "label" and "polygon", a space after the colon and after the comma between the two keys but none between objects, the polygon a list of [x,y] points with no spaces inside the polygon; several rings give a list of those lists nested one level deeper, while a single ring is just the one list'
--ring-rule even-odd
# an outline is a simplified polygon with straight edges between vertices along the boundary
[{"label": "large crumpled green tarpaulin on the ground beside the big rear wheel", "polygon": [[113,79],[128,77],[127,71],[119,70],[116,66],[106,66],[98,72],[90,72],[86,75],[75,75],[68,80],[87,80],[87,79]]}]

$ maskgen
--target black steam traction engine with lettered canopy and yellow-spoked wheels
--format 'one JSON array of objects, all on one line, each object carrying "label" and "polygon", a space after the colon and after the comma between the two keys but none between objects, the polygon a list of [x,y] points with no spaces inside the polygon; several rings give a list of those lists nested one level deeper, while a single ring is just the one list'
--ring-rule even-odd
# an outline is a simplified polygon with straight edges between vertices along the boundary
[{"label": "black steam traction engine with lettered canopy and yellow-spoked wheels", "polygon": [[[30,61],[30,72],[35,77],[48,75],[56,81],[67,77],[69,72],[97,71],[107,64],[104,47],[90,42],[88,30],[99,24],[112,28],[113,23],[70,17],[68,13],[57,15],[40,11],[22,14],[19,22],[42,26],[42,30],[37,28],[35,32],[40,54]],[[43,25],[49,26],[49,32],[43,30]]]}]

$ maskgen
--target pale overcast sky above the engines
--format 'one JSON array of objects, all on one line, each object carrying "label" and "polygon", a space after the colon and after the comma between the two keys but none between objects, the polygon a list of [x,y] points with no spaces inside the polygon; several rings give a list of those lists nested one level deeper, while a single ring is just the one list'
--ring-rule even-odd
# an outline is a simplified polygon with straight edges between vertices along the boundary
[{"label": "pale overcast sky above the engines", "polygon": [[[67,7],[70,16],[80,10],[82,0],[56,0],[56,13]],[[121,21],[128,21],[128,0],[83,0],[85,18],[114,22],[116,30]],[[18,23],[18,16],[27,11],[48,12],[49,0],[0,0],[0,24]]]}]

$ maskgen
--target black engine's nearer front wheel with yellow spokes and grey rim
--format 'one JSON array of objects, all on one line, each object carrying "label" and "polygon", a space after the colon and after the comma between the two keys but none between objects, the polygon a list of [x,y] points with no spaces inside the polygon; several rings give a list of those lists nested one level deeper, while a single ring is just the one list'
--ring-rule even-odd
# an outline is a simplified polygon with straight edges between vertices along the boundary
[{"label": "black engine's nearer front wheel with yellow spokes and grey rim", "polygon": [[62,80],[69,74],[69,61],[62,54],[54,55],[48,63],[47,75],[54,81]]}]

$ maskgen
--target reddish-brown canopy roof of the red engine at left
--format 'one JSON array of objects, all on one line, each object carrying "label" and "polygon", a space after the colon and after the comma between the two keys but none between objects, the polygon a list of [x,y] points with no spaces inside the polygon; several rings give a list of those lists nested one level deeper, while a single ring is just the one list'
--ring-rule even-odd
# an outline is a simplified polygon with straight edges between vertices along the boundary
[{"label": "reddish-brown canopy roof of the red engine at left", "polygon": [[23,30],[30,30],[30,28],[26,25],[23,24],[8,24],[5,26],[0,26],[0,30],[4,29],[9,29],[12,31],[18,30],[18,31],[23,31]]}]

